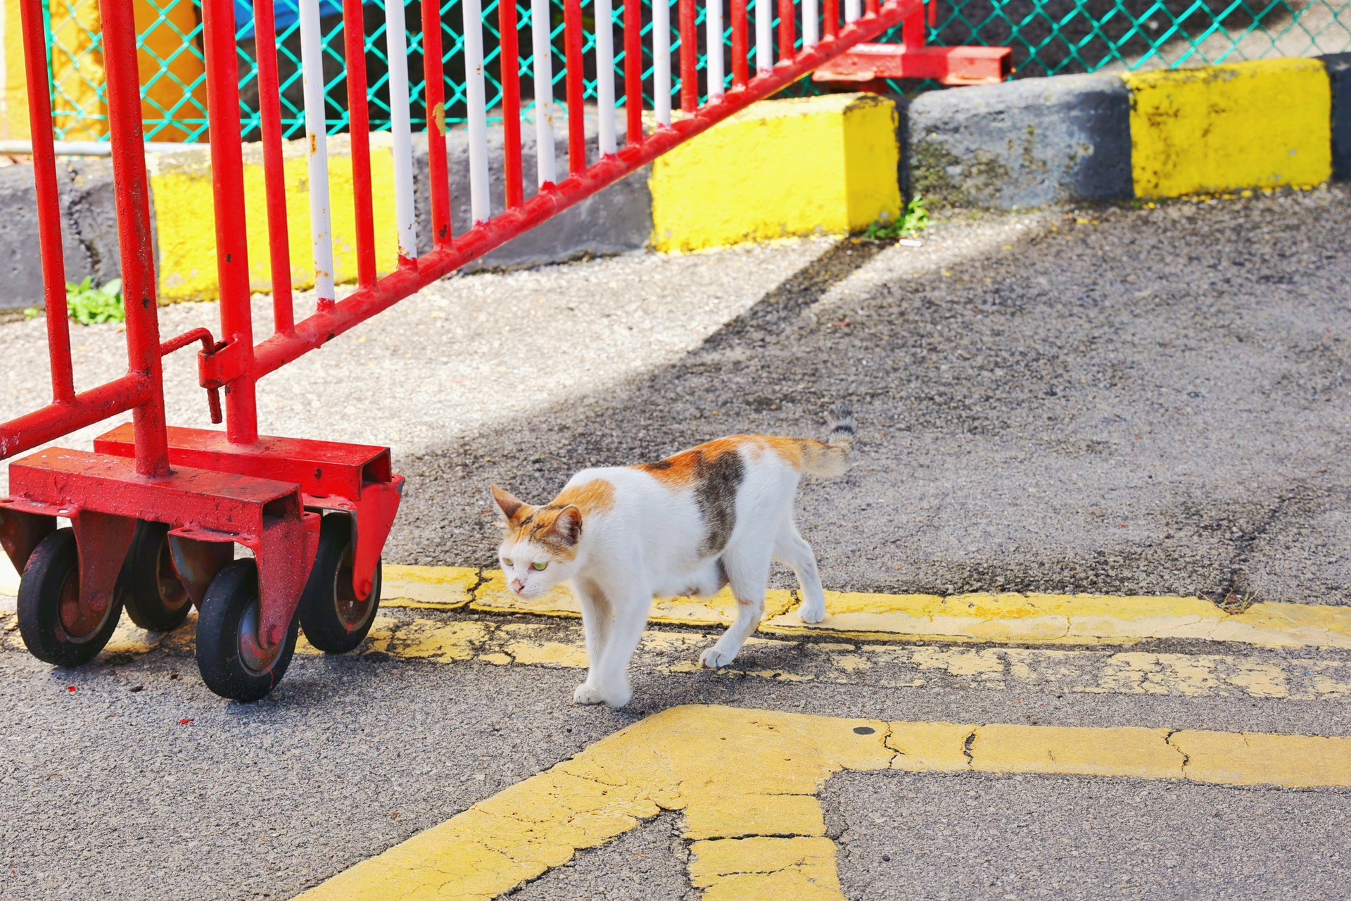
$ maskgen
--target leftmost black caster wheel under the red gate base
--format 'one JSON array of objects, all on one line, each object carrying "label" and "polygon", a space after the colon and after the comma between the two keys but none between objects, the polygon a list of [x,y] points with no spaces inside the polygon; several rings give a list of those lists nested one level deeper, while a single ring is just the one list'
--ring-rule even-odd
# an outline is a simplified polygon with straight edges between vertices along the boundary
[{"label": "leftmost black caster wheel under the red gate base", "polygon": [[112,638],[122,617],[120,592],[101,612],[80,609],[80,552],[72,528],[47,535],[28,557],[19,581],[19,634],[46,663],[88,663]]}]

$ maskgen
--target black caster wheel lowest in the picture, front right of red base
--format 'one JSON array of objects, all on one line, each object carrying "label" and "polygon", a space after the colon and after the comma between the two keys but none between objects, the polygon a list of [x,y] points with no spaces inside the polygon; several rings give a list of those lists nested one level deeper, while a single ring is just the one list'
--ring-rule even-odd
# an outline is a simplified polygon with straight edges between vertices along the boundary
[{"label": "black caster wheel lowest in the picture, front right of red base", "polygon": [[258,563],[235,561],[211,581],[197,613],[197,669],[201,681],[220,697],[257,701],[277,686],[296,650],[299,620],[281,644],[258,642]]}]

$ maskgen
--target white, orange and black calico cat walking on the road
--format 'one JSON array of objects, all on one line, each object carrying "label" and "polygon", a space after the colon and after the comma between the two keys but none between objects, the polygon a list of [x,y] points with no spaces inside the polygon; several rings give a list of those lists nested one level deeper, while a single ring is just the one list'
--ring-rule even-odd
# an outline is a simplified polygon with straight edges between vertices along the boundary
[{"label": "white, orange and black calico cat walking on the road", "polygon": [[838,405],[828,423],[824,442],[732,435],[657,463],[585,469],[543,507],[493,486],[511,590],[539,597],[566,581],[581,601],[590,670],[577,704],[628,702],[628,661],[653,597],[709,597],[731,584],[736,621],[700,655],[708,667],[731,663],[759,625],[771,559],[797,574],[802,621],[825,617],[793,497],[802,473],[832,477],[848,466],[854,416]]}]

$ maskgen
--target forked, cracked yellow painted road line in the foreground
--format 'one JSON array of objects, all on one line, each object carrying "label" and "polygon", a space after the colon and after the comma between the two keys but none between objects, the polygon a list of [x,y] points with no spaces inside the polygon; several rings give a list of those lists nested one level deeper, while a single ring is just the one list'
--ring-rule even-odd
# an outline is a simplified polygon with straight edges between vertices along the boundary
[{"label": "forked, cracked yellow painted road line in the foreground", "polygon": [[[1351,739],[885,723],[678,706],[519,782],[301,898],[499,897],[662,810],[685,812],[705,898],[839,901],[817,794],[843,770],[1111,775],[1351,788]],[[786,801],[792,798],[792,801]]]}]

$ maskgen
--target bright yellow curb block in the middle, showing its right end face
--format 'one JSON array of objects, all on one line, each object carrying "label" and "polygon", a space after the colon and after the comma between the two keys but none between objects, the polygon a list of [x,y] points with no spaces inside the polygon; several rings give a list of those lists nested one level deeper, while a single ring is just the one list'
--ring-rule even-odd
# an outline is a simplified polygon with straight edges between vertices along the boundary
[{"label": "bright yellow curb block in the middle, showing its right end face", "polygon": [[653,163],[665,253],[858,231],[901,209],[896,107],[873,95],[767,100]]}]

